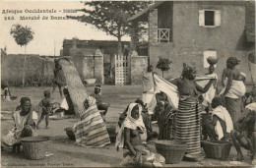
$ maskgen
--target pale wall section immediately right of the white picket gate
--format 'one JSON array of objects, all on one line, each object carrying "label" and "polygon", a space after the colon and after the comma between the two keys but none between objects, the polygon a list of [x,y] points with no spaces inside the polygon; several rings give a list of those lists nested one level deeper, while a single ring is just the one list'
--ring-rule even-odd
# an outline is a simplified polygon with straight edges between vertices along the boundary
[{"label": "pale wall section immediately right of the white picket gate", "polygon": [[131,84],[142,84],[143,74],[148,67],[148,56],[138,56],[136,51],[131,54]]}]

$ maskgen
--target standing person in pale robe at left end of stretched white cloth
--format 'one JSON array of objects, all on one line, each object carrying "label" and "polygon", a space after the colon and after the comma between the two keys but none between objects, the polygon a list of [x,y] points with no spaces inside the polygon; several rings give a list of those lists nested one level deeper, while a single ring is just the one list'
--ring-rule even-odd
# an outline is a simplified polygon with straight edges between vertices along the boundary
[{"label": "standing person in pale robe at left end of stretched white cloth", "polygon": [[153,66],[149,65],[147,72],[143,75],[143,94],[142,100],[147,104],[149,114],[152,116],[154,114],[154,108],[156,106],[156,96],[154,90],[153,81]]}]

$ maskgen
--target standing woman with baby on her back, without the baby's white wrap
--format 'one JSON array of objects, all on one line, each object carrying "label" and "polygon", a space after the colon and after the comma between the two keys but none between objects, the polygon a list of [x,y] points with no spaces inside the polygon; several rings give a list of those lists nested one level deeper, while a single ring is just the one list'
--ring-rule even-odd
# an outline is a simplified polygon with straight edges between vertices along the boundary
[{"label": "standing woman with baby on her back, without the baby's white wrap", "polygon": [[224,90],[223,97],[225,101],[225,107],[229,112],[233,123],[236,123],[238,118],[241,116],[241,98],[229,92],[229,89],[232,85],[232,81],[237,81],[240,75],[240,71],[235,68],[235,66],[239,63],[240,61],[237,60],[235,57],[228,57],[226,60],[227,84]]}]

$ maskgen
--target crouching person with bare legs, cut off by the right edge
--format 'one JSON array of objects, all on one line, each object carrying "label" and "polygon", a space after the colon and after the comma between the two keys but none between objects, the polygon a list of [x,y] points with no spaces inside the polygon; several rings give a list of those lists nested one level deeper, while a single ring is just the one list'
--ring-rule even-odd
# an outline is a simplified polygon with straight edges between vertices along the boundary
[{"label": "crouching person with bare legs, cut off by the right edge", "polygon": [[236,130],[231,131],[231,138],[237,151],[234,160],[244,160],[240,146],[248,150],[252,165],[256,164],[256,102],[247,105],[243,116],[238,120]]}]

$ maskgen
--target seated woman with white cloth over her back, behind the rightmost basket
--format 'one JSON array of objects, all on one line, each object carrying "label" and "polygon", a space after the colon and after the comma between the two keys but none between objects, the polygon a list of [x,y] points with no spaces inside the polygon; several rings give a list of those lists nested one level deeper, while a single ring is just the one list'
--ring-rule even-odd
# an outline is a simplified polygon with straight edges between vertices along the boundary
[{"label": "seated woman with white cloth over her back, behind the rightmost basket", "polygon": [[223,106],[222,97],[215,97],[212,101],[213,120],[208,121],[207,131],[211,140],[228,140],[233,130],[232,119]]}]

